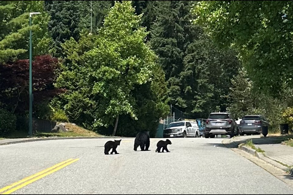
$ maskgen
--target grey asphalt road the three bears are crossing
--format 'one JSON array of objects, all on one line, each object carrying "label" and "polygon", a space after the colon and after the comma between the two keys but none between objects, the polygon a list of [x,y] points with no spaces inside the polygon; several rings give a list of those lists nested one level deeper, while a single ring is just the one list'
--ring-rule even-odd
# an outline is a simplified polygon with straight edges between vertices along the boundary
[{"label": "grey asphalt road the three bears are crossing", "polygon": [[[7,190],[10,194],[293,192],[286,183],[224,147],[223,138],[171,138],[169,153],[155,153],[161,139],[151,139],[151,151],[133,151],[134,139],[125,138],[117,148],[120,154],[104,155],[103,145],[108,140],[114,139],[49,140],[0,146],[0,194]],[[15,184],[70,158],[77,160],[46,176],[39,173],[35,181],[31,177]]]}]

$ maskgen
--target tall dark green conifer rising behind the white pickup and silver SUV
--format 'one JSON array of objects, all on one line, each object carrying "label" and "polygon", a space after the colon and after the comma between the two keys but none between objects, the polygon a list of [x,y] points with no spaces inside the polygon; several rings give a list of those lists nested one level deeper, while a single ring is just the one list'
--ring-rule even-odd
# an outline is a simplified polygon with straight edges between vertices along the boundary
[{"label": "tall dark green conifer rising behind the white pickup and silver SUV", "polygon": [[[150,45],[165,70],[170,103],[193,118],[226,109],[225,95],[239,62],[219,51],[190,20],[192,1],[157,2]],[[226,60],[226,58],[228,58]]]}]

